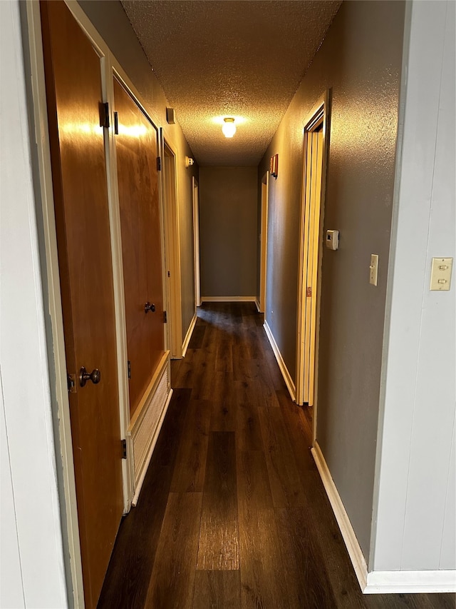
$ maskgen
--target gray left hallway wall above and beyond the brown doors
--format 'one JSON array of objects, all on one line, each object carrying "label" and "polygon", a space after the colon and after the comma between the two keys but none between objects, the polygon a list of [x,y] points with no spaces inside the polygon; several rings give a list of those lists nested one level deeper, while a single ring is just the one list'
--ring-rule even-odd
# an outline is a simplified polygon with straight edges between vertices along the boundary
[{"label": "gray left hallway wall above and beyond the brown doors", "polygon": [[[108,44],[145,101],[146,109],[157,126],[165,130],[167,141],[177,151],[177,201],[180,222],[182,336],[185,337],[195,314],[195,286],[193,283],[193,203],[192,176],[198,167],[185,168],[185,156],[193,156],[179,124],[168,125],[165,94],[152,72],[135,32],[118,0],[79,0],[78,4]],[[179,117],[177,117],[177,120]]]}]

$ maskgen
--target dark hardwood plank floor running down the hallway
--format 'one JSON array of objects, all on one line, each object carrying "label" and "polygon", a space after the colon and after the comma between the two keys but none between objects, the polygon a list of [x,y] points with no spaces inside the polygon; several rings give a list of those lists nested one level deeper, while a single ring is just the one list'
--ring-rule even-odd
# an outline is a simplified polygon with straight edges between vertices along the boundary
[{"label": "dark hardwood plank floor running down the hallway", "polygon": [[253,303],[204,304],[100,608],[454,609],[363,595]]}]

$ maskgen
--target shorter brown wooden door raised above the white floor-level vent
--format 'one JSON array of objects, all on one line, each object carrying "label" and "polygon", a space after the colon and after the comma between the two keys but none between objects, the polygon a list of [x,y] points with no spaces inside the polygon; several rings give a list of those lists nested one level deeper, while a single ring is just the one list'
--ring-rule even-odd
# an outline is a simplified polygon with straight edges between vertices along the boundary
[{"label": "shorter brown wooden door raised above the white floor-level vent", "polygon": [[[130,413],[138,408],[164,353],[162,252],[157,174],[157,130],[114,79],[118,134],[120,226]],[[155,311],[145,311],[145,303]]]}]

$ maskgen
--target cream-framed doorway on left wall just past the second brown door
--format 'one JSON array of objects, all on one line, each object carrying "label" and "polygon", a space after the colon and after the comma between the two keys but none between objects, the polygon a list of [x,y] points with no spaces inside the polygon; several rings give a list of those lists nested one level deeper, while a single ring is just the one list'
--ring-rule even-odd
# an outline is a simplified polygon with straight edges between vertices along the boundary
[{"label": "cream-framed doorway on left wall just past the second brown door", "polygon": [[160,129],[162,150],[162,192],[165,216],[165,278],[167,281],[167,322],[172,358],[182,358],[182,309],[180,277],[180,228],[177,202],[177,152]]}]

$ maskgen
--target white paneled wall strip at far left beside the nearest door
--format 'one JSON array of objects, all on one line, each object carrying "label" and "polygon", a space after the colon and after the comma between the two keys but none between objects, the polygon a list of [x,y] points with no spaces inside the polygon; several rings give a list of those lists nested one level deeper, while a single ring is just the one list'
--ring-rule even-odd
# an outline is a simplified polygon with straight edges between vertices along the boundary
[{"label": "white paneled wall strip at far left beside the nearest door", "polygon": [[[17,1],[0,2],[0,44],[0,363],[11,490],[25,606],[61,609],[66,581]],[[16,579],[6,586],[2,598],[16,595]]]}]

